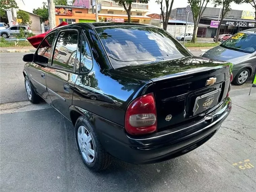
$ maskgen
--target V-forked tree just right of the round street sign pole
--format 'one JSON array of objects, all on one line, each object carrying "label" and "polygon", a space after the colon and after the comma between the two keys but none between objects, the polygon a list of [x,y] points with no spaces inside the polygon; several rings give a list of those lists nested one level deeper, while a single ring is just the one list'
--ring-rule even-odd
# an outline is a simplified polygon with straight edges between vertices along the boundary
[{"label": "V-forked tree just right of the round street sign pole", "polygon": [[199,21],[202,17],[204,10],[206,9],[206,5],[209,3],[210,0],[188,0],[188,3],[191,7],[193,13],[193,20],[194,20],[194,30],[193,30],[193,37],[191,42],[196,42],[196,34],[197,34],[197,26]]}]

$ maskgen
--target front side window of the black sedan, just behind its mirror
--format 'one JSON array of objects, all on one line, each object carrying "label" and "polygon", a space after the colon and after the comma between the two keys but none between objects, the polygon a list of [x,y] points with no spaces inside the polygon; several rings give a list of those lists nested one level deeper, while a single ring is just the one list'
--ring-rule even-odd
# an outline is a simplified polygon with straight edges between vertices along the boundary
[{"label": "front side window of the black sedan, just behind its mirror", "polygon": [[55,35],[56,33],[50,34],[40,44],[40,47],[37,51],[37,55],[41,55],[45,57],[44,61],[43,59],[40,59],[40,61],[42,61],[43,63],[48,63],[48,59],[50,58],[50,55],[51,55],[51,48],[52,48]]}]

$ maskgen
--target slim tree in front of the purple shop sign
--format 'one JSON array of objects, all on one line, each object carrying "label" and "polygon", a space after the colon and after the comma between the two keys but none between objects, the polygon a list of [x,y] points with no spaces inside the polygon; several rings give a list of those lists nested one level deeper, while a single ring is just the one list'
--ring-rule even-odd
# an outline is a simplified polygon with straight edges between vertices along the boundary
[{"label": "slim tree in front of the purple shop sign", "polygon": [[222,23],[223,19],[226,17],[227,13],[229,11],[231,11],[231,7],[230,7],[230,3],[231,2],[232,1],[214,0],[214,7],[222,6],[220,24],[219,24],[219,26],[217,28],[217,33],[216,33],[216,43],[218,43],[221,23]]}]

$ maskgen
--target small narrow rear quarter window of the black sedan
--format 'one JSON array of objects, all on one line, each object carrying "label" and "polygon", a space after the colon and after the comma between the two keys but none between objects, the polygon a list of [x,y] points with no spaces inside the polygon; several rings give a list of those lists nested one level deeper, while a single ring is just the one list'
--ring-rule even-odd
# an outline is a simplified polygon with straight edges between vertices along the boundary
[{"label": "small narrow rear quarter window of the black sedan", "polygon": [[[79,54],[77,54],[79,55]],[[79,56],[77,56],[79,58]],[[76,66],[78,69],[79,66]],[[83,35],[80,72],[89,72],[92,69],[92,53],[86,37]]]}]

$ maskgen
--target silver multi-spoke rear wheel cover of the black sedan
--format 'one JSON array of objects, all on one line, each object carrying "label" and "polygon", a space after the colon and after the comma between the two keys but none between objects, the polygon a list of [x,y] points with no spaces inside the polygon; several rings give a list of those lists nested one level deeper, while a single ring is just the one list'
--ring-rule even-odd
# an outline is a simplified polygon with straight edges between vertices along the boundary
[{"label": "silver multi-spoke rear wheel cover of the black sedan", "polygon": [[94,142],[85,126],[78,128],[77,141],[84,160],[88,163],[92,163],[95,158]]}]

